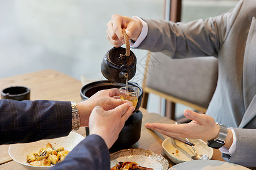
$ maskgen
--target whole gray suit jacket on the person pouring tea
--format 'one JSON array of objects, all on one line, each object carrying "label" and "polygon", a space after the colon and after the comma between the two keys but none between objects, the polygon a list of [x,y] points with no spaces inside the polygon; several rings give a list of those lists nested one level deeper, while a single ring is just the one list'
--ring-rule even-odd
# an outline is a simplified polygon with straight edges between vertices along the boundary
[{"label": "whole gray suit jacket on the person pouring tea", "polygon": [[171,58],[218,58],[218,82],[207,114],[233,127],[236,151],[229,162],[256,167],[256,1],[244,0],[207,20],[172,23],[143,19],[148,35],[139,49]]}]

